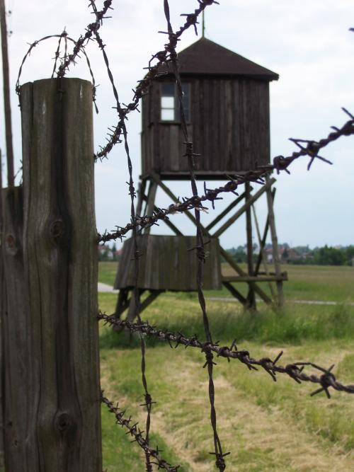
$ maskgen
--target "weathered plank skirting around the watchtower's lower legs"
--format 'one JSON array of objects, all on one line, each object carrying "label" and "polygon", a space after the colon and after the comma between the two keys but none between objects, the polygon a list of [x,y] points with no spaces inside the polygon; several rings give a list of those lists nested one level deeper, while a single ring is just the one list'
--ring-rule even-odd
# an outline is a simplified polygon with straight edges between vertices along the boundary
[{"label": "weathered plank skirting around the watchtower's lower legs", "polygon": [[[197,258],[195,236],[138,236],[139,289],[195,291]],[[220,289],[221,266],[219,241],[210,238],[205,246],[207,258],[204,265],[204,288]],[[132,288],[135,284],[135,260],[132,238],[125,241],[122,259],[118,267],[115,289]]]}]

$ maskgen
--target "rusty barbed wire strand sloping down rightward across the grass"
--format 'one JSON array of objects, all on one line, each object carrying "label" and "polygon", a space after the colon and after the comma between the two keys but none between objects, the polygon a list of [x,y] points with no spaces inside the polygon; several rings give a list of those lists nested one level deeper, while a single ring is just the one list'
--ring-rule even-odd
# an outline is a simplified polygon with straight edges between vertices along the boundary
[{"label": "rusty barbed wire strand sloping down rightward across the grass", "polygon": [[[230,359],[239,360],[239,362],[245,364],[249,370],[258,370],[257,367],[261,367],[271,376],[273,381],[277,381],[276,374],[286,374],[298,384],[301,384],[302,381],[310,382],[312,384],[319,384],[321,387],[312,392],[312,396],[320,393],[321,391],[324,391],[326,396],[330,398],[331,395],[329,393],[329,388],[333,388],[333,390],[342,391],[345,393],[354,393],[354,384],[344,385],[336,380],[336,377],[331,372],[333,365],[329,367],[329,369],[326,369],[317,364],[314,364],[313,362],[292,362],[283,367],[277,365],[280,357],[283,354],[283,351],[280,351],[274,360],[268,357],[254,359],[251,357],[248,350],[239,350],[237,348],[236,340],[234,340],[231,346],[220,346],[218,343],[202,343],[198,339],[197,335],[193,335],[191,338],[188,338],[182,333],[173,333],[169,330],[163,330],[157,328],[156,326],[150,325],[146,321],[142,323],[132,323],[127,320],[115,318],[114,313],[113,315],[107,315],[101,311],[98,313],[98,319],[104,321],[104,324],[108,324],[110,326],[127,328],[132,333],[141,332],[144,333],[144,335],[165,341],[169,343],[170,347],[172,348],[176,348],[178,345],[184,345],[185,347],[196,347],[202,352],[205,352],[205,349],[209,349],[210,351],[215,352],[217,357],[225,357],[228,362],[230,362]],[[172,343],[176,343],[176,345],[173,346]],[[314,369],[321,372],[321,376],[306,374],[304,372],[305,367],[313,367]]]}]

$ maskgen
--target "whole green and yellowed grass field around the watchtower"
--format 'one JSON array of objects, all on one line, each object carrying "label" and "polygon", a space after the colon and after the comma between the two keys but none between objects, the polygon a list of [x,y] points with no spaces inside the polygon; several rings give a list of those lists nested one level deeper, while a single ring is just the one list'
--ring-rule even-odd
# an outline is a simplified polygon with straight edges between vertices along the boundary
[{"label": "whole green and yellowed grass field around the watchtower", "polygon": [[[101,282],[111,283],[115,270],[101,265]],[[290,268],[290,267],[289,267]],[[109,272],[111,274],[109,275]],[[287,298],[354,301],[353,267],[291,267]],[[111,278],[110,278],[111,277]],[[305,290],[304,287],[312,287]],[[321,287],[323,287],[321,289]],[[210,294],[206,293],[208,297]],[[224,296],[224,294],[222,294]],[[108,313],[116,295],[100,294]],[[207,302],[214,339],[227,345],[234,338],[253,357],[275,357],[282,364],[311,360],[328,367],[343,383],[354,383],[354,307],[288,304],[275,315],[260,305],[246,314],[236,303]],[[144,311],[144,318],[186,335],[202,337],[195,294],[164,294]],[[198,350],[147,340],[147,379],[156,401],[152,446],[164,449],[181,471],[215,470],[212,463],[207,372]],[[127,415],[144,430],[140,352],[137,342],[101,326],[101,383],[105,394],[120,401]],[[310,397],[316,386],[265,372],[249,372],[239,362],[217,359],[215,401],[219,436],[229,471],[354,471],[354,396],[333,392]],[[103,454],[107,472],[143,471],[144,457],[103,408]]]}]

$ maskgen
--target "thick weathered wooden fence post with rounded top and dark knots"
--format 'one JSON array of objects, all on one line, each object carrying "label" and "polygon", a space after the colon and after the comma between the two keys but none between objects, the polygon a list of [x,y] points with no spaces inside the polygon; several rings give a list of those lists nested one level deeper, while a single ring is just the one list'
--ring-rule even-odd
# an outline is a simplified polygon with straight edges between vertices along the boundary
[{"label": "thick weathered wooden fence post with rounded top and dark knots", "polygon": [[101,472],[92,86],[25,84],[21,112],[27,470]]}]

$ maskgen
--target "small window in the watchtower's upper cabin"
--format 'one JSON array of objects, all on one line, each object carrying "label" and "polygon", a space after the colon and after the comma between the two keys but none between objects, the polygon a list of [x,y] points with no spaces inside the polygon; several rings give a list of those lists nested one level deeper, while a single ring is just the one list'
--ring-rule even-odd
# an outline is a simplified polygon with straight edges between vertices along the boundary
[{"label": "small window in the watchtower's upper cabin", "polygon": [[[190,84],[183,83],[185,120],[190,121]],[[177,86],[173,82],[161,84],[161,121],[181,121]]]}]

